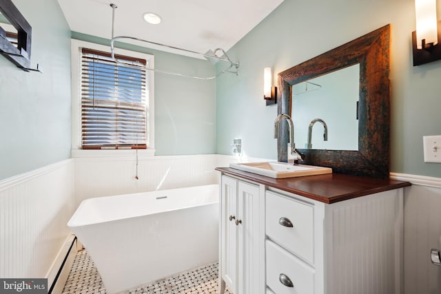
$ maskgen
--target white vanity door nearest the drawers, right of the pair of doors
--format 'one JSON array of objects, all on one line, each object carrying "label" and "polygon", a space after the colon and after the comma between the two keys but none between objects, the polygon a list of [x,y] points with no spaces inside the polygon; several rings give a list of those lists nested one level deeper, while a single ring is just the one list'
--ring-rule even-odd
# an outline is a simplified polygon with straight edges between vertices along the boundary
[{"label": "white vanity door nearest the drawers, right of the pair of doors", "polygon": [[265,213],[259,187],[238,182],[238,294],[265,293]]}]

